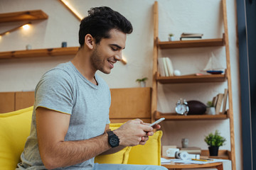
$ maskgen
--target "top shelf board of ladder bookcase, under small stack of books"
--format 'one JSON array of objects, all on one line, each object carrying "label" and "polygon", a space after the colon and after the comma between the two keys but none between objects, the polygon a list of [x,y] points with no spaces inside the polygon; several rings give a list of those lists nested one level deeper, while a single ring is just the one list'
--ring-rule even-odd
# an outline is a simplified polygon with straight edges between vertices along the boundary
[{"label": "top shelf board of ladder bookcase, under small stack of books", "polygon": [[161,49],[190,48],[190,47],[216,47],[225,45],[224,38],[202,39],[202,40],[179,40],[179,41],[158,41]]}]

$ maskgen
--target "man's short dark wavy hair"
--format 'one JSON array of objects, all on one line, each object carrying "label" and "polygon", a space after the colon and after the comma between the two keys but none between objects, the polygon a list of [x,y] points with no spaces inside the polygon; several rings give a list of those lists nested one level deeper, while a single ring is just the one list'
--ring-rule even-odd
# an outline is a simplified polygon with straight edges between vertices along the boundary
[{"label": "man's short dark wavy hair", "polygon": [[88,16],[80,23],[79,43],[80,47],[85,43],[85,35],[90,34],[99,43],[102,38],[110,38],[110,30],[117,29],[123,33],[132,33],[132,23],[117,11],[107,6],[90,8]]}]

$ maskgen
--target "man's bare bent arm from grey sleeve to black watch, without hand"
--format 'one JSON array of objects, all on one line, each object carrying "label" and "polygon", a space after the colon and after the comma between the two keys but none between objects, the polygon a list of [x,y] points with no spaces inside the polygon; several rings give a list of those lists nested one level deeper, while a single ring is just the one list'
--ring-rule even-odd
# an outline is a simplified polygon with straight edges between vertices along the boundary
[{"label": "man's bare bent arm from grey sleeve to black watch, without hand", "polygon": [[90,140],[64,141],[69,123],[68,114],[36,109],[38,147],[46,169],[79,164],[111,148],[106,133]]}]

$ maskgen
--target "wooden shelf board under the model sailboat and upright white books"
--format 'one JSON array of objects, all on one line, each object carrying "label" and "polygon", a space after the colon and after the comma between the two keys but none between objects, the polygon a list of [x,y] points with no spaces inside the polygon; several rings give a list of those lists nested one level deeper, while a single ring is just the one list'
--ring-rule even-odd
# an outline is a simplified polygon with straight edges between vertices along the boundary
[{"label": "wooden shelf board under the model sailboat and upright white books", "polygon": [[159,77],[156,74],[156,81],[161,84],[181,84],[181,83],[209,83],[209,82],[223,82],[227,79],[226,74],[209,74],[209,75],[189,75],[189,76],[174,76],[174,77]]}]

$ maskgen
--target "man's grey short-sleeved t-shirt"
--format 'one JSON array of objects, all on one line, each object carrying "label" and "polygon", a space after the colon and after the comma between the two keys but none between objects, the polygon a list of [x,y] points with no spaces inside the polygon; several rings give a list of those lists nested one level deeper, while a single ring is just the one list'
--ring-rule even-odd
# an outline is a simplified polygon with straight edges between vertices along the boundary
[{"label": "man's grey short-sleeved t-shirt", "polygon": [[[72,62],[59,64],[43,75],[36,86],[31,134],[21,154],[19,169],[46,169],[36,135],[38,106],[71,115],[65,141],[87,140],[103,134],[105,126],[110,123],[110,88],[97,74],[95,79],[98,85],[85,79]],[[92,169],[93,164],[94,158],[63,169]]]}]

